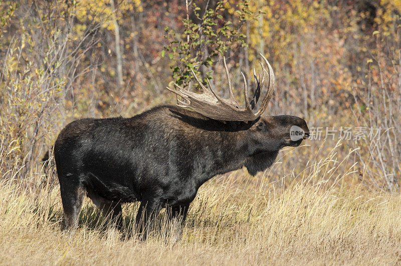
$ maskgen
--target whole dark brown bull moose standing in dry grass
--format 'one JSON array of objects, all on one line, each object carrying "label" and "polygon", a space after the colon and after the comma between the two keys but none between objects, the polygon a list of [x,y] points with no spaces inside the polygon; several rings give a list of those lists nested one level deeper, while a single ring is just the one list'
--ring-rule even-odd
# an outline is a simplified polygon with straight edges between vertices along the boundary
[{"label": "whole dark brown bull moose standing in dry grass", "polygon": [[[210,82],[208,90],[192,71],[203,92],[174,83],[176,89],[167,89],[181,97],[177,106],[157,106],[130,118],[84,118],[67,124],[54,145],[66,227],[77,227],[88,196],[117,226],[122,224],[121,203],[140,201],[136,226],[142,239],[163,207],[181,230],[200,185],[244,166],[255,175],[272,165],[282,147],[298,146],[309,135],[304,119],[261,117],[275,82],[271,65],[261,56],[268,70],[261,62],[259,80],[254,70],[256,88],[251,101],[243,74],[245,107],[234,97],[224,59],[227,99]],[[254,113],[265,79],[266,96]],[[290,136],[294,125],[304,131],[295,140]]]}]

